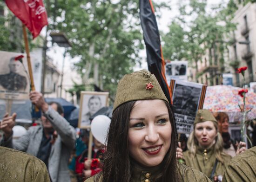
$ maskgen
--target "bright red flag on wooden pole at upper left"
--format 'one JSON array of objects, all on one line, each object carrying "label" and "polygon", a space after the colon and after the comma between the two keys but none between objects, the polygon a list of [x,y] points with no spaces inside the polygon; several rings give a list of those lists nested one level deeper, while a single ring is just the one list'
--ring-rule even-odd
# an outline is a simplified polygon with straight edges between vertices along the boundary
[{"label": "bright red flag on wooden pole at upper left", "polygon": [[28,30],[33,39],[48,25],[47,13],[43,0],[5,0],[7,7],[17,16]]}]

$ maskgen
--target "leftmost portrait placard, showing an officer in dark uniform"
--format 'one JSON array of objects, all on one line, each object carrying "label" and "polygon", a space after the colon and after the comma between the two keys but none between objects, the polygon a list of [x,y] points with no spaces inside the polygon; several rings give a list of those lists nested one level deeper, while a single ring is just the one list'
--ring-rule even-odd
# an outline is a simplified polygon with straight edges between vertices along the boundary
[{"label": "leftmost portrait placard, showing an officer in dark uniform", "polygon": [[[24,58],[15,60],[23,55]],[[0,98],[11,100],[28,99],[30,81],[26,67],[26,55],[16,52],[0,51]]]}]

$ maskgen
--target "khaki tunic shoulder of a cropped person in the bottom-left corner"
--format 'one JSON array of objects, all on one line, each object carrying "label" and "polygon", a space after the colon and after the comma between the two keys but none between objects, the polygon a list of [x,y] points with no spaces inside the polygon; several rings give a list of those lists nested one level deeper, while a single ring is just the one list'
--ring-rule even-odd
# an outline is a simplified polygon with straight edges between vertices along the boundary
[{"label": "khaki tunic shoulder of a cropped person in the bottom-left corner", "polygon": [[27,153],[0,147],[0,182],[50,182],[45,163]]}]

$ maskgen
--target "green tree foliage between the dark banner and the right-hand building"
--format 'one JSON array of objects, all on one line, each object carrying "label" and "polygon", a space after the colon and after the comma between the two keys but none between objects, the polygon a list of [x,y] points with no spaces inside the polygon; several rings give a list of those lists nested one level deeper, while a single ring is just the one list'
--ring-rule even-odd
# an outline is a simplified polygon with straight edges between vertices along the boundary
[{"label": "green tree foliage between the dark banner and the right-hand building", "polygon": [[169,26],[169,32],[163,36],[164,56],[171,60],[188,60],[198,71],[198,61],[204,61],[202,56],[208,52],[209,63],[216,65],[218,60],[221,71],[224,71],[223,54],[229,45],[226,39],[236,28],[230,20],[237,7],[233,0],[230,0],[229,6],[220,4],[211,7],[210,11],[206,11],[206,6],[207,0],[180,3],[180,15]]}]

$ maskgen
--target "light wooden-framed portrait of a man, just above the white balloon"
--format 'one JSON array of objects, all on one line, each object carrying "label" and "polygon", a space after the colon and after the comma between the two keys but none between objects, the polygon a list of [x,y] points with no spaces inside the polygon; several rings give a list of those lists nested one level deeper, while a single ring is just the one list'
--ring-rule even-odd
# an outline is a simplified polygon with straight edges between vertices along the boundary
[{"label": "light wooden-framed portrait of a man, just above the white balloon", "polygon": [[87,128],[92,117],[102,107],[108,106],[108,92],[100,91],[81,91],[79,128]]}]

